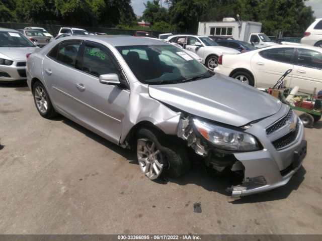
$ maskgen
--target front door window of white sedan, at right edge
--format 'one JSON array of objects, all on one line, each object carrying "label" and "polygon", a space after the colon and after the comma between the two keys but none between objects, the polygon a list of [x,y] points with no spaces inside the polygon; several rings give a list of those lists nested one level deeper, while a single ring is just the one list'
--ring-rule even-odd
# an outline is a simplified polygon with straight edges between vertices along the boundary
[{"label": "front door window of white sedan, at right edge", "polygon": [[308,49],[299,49],[297,54],[297,65],[322,69],[322,54]]}]

